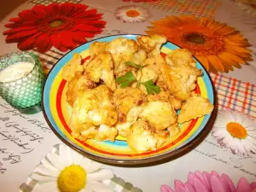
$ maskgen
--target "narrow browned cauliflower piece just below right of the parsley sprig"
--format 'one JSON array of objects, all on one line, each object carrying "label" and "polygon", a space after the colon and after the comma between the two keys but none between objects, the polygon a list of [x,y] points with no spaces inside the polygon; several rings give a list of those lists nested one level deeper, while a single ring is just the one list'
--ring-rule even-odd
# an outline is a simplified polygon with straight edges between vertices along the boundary
[{"label": "narrow browned cauliflower piece just below right of the parsley sprig", "polygon": [[175,98],[175,96],[172,96],[168,91],[160,91],[158,94],[154,95],[148,95],[147,96],[148,102],[169,102],[173,108],[176,110],[180,109],[182,106],[182,102]]}]

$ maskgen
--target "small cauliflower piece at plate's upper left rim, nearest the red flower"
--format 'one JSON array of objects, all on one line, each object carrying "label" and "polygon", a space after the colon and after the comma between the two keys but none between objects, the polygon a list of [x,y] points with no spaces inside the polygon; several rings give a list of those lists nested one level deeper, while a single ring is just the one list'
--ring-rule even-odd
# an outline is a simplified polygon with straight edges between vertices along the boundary
[{"label": "small cauliflower piece at plate's upper left rim, nearest the red flower", "polygon": [[62,68],[61,77],[70,81],[74,77],[75,72],[84,72],[84,67],[81,65],[82,57],[78,53],[75,53],[70,61]]}]

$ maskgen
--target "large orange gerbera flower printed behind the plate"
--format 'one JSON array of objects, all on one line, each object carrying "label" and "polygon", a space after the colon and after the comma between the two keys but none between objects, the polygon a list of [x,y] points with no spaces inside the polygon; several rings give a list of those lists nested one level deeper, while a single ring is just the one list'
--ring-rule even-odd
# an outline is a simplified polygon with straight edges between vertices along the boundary
[{"label": "large orange gerbera flower printed behind the plate", "polygon": [[253,61],[247,39],[235,28],[216,20],[195,16],[166,16],[148,26],[150,34],[163,34],[195,55],[209,72],[229,72]]}]

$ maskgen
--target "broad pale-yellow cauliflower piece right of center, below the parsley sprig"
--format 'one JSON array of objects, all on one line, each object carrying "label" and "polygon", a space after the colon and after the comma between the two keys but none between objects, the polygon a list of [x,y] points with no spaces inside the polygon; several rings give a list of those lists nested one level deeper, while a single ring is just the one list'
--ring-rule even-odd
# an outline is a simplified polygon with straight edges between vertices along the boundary
[{"label": "broad pale-yellow cauliflower piece right of center, below the parsley sprig", "polygon": [[164,130],[177,121],[177,113],[169,102],[147,102],[139,117],[147,120],[155,130]]}]

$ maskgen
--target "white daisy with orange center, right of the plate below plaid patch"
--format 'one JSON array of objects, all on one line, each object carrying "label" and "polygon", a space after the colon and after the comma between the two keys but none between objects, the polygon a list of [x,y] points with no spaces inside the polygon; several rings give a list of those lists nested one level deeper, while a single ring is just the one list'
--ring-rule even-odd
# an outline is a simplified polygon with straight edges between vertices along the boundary
[{"label": "white daisy with orange center, right of the plate below plaid patch", "polygon": [[256,120],[243,113],[219,110],[212,136],[233,154],[246,157],[256,154]]}]

